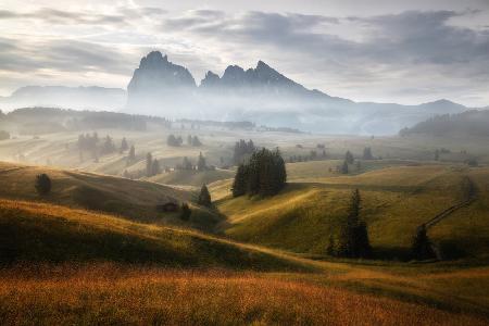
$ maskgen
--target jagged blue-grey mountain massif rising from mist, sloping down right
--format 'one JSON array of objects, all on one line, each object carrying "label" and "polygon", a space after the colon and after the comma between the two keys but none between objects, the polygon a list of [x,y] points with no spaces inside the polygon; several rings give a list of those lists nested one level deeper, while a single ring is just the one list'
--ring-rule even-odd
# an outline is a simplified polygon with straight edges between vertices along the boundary
[{"label": "jagged blue-grey mountain massif rising from mist, sloping down right", "polygon": [[311,90],[263,61],[208,72],[200,86],[190,72],[161,52],[142,58],[128,87],[126,111],[165,117],[251,121],[328,134],[397,134],[401,128],[465,106],[440,100],[421,105],[356,103]]}]

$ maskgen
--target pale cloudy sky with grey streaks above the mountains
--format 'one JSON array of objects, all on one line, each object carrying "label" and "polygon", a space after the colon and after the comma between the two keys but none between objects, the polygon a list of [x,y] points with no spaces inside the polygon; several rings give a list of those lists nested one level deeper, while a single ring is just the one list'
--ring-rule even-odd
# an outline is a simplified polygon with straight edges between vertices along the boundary
[{"label": "pale cloudy sky with grey streaks above the mountains", "polygon": [[354,101],[489,105],[489,0],[0,0],[0,96],[126,88],[152,50],[196,80],[259,60]]}]

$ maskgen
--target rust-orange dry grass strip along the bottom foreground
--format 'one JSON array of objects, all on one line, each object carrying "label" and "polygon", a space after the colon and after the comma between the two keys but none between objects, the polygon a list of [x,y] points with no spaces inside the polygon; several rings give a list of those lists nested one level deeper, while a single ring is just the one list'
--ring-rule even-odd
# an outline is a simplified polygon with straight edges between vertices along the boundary
[{"label": "rust-orange dry grass strip along the bottom foreground", "polygon": [[0,302],[5,325],[485,325],[264,274],[115,265],[1,271]]}]

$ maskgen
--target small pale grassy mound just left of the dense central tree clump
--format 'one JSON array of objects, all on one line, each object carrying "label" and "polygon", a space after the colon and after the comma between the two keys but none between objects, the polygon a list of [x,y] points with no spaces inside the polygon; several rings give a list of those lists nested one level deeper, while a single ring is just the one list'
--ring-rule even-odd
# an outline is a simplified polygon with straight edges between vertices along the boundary
[{"label": "small pale grassy mound just left of the dense central tree clump", "polygon": [[217,180],[233,178],[235,173],[228,170],[212,171],[172,171],[148,178],[149,180],[164,185],[181,185],[201,187],[203,184],[212,184]]}]

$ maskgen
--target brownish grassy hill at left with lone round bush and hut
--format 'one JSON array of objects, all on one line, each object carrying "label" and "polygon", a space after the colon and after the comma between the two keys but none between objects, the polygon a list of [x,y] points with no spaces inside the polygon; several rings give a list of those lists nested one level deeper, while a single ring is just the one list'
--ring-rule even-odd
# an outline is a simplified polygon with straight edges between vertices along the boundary
[{"label": "brownish grassy hill at left with lone round bush and hut", "polygon": [[[39,196],[35,178],[47,173],[52,190]],[[158,204],[168,201],[191,201],[193,193],[155,183],[130,180],[92,173],[63,171],[45,166],[29,166],[0,162],[2,187],[0,198],[35,200],[117,214],[140,222],[181,224],[178,213],[162,213]],[[188,226],[209,229],[218,222],[213,212],[192,205]]]}]

